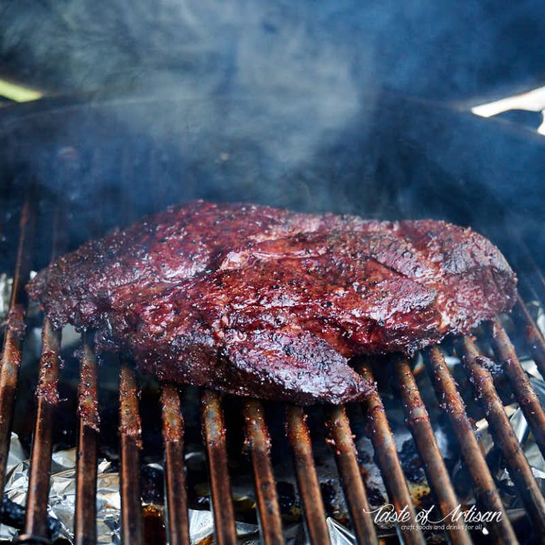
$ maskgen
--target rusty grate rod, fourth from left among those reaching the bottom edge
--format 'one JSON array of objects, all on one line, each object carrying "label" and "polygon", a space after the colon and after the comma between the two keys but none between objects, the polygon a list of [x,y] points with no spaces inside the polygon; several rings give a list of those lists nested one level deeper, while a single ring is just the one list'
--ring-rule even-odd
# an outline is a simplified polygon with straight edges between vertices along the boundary
[{"label": "rusty grate rod, fourth from left among those reaching the bottom edge", "polygon": [[170,545],[189,545],[187,490],[185,488],[184,419],[180,396],[172,384],[161,385],[165,480],[167,485],[167,531]]}]

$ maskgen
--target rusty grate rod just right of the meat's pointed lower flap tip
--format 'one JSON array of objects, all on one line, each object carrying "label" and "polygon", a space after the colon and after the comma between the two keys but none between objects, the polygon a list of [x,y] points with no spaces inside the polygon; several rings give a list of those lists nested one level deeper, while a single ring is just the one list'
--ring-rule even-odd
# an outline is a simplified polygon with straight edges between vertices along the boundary
[{"label": "rusty grate rod just right of the meat's pointed lower flap tip", "polygon": [[[365,380],[373,383],[373,373],[368,365],[359,365],[358,368]],[[416,512],[412,503],[412,497],[407,487],[407,481],[401,467],[400,458],[397,456],[395,439],[388,424],[384,405],[378,392],[372,392],[365,402],[368,419],[368,436],[373,442],[375,461],[382,480],[384,481],[390,502],[399,514],[408,513],[409,519],[398,526],[403,542],[409,544],[424,544],[424,536],[416,522]]]}]

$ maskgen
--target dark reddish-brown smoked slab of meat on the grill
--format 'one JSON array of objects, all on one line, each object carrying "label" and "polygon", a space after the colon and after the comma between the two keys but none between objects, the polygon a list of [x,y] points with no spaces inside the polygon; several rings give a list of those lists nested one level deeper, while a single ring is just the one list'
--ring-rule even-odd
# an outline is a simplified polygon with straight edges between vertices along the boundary
[{"label": "dark reddish-brown smoked slab of meat on the grill", "polygon": [[340,403],[371,387],[350,358],[468,333],[515,287],[490,241],[442,221],[192,202],[89,241],[28,292],[160,379]]}]

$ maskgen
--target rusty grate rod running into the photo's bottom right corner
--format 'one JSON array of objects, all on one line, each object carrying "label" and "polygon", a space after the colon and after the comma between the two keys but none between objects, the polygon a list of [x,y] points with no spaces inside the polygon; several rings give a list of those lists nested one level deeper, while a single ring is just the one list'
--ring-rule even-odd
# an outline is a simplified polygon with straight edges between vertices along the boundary
[{"label": "rusty grate rod running into the photo's bottom right corner", "polygon": [[536,531],[545,536],[545,500],[536,483],[532,468],[520,448],[517,436],[505,414],[502,400],[497,394],[494,379],[485,368],[485,361],[477,346],[469,337],[459,341],[463,352],[463,363],[468,378],[473,384],[478,401],[486,414],[495,444],[500,448],[509,470],[509,475],[519,491]]}]

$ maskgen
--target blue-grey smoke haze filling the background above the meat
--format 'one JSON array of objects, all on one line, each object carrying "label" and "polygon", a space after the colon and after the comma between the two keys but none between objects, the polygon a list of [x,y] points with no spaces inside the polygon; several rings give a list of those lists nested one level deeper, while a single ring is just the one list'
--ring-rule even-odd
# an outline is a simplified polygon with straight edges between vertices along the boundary
[{"label": "blue-grey smoke haze filling the background above the meat", "polygon": [[[436,215],[419,192],[441,186],[445,170],[459,171],[453,187],[470,180],[501,201],[510,163],[525,148],[511,162],[472,126],[473,148],[484,150],[474,158],[469,140],[458,138],[465,121],[456,131],[440,113],[436,128],[412,110],[390,115],[409,105],[383,103],[384,92],[461,102],[532,85],[545,74],[544,19],[536,0],[8,0],[0,6],[0,62],[4,73],[56,94],[158,99],[91,105],[33,127],[35,148],[25,156],[33,175],[52,192],[72,180],[82,208],[94,197],[89,188],[114,201],[104,195],[121,192],[130,148],[138,213],[163,187],[162,204],[243,199],[395,217],[412,202],[418,215]],[[55,161],[72,148],[77,167],[67,175]],[[432,161],[437,169],[419,182],[414,172],[428,172]],[[534,155],[527,162],[537,165]],[[535,201],[527,194],[522,212]],[[458,208],[471,206],[461,199]]]}]

